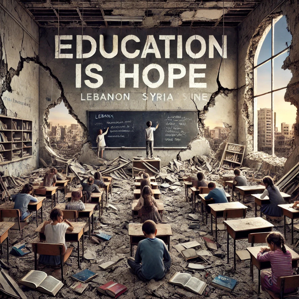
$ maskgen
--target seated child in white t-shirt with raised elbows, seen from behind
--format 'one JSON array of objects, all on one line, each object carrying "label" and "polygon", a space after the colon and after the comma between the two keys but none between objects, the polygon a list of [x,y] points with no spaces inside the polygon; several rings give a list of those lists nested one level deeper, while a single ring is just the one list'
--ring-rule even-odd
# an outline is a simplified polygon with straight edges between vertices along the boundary
[{"label": "seated child in white t-shirt with raised elbows, seen from behind", "polygon": [[[74,230],[74,226],[71,224],[71,222],[69,222],[67,219],[63,219],[62,217],[62,210],[58,208],[51,210],[50,219],[52,221],[45,221],[42,231],[44,231],[46,243],[63,244],[66,251],[67,246],[65,244],[65,232],[72,232]],[[55,266],[60,265],[60,255],[40,254],[39,263]]]}]

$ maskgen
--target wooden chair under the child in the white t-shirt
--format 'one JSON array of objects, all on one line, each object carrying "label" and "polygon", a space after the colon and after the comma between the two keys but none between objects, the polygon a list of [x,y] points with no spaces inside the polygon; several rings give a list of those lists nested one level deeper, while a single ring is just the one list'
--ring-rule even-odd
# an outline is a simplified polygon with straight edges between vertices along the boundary
[{"label": "wooden chair under the child in the white t-shirt", "polygon": [[65,251],[65,247],[63,244],[33,242],[32,249],[34,252],[34,270],[37,270],[37,254],[60,255],[61,280],[63,283],[63,266],[66,260],[70,257],[74,247],[68,247],[68,249]]}]

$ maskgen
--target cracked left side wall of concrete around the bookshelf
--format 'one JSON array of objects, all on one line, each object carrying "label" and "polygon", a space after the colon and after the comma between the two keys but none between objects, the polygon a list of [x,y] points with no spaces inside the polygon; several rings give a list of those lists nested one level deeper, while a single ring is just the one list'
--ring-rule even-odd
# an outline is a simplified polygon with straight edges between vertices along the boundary
[{"label": "cracked left side wall of concrete around the bookshelf", "polygon": [[17,1],[0,2],[1,114],[33,121],[33,157],[0,165],[19,175],[39,166],[39,29]]}]

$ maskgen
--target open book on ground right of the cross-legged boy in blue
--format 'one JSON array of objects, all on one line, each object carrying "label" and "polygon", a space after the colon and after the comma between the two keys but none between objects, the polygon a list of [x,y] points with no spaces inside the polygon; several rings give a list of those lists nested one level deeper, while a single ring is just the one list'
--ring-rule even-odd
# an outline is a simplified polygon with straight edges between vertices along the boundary
[{"label": "open book on ground right of the cross-legged boy in blue", "polygon": [[182,286],[184,289],[191,291],[193,293],[202,295],[207,284],[204,281],[193,277],[189,273],[176,272],[173,277],[168,280],[169,283],[175,284],[177,286]]}]

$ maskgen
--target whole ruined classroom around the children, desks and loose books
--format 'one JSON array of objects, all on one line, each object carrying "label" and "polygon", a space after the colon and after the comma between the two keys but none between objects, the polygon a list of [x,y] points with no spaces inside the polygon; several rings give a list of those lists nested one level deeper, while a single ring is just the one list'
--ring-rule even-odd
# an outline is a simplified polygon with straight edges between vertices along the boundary
[{"label": "whole ruined classroom around the children, desks and loose books", "polygon": [[[247,207],[246,218],[259,216],[260,208],[254,196],[243,199],[228,188],[234,168],[251,186],[271,176],[290,202],[297,199],[298,0],[2,0],[0,11],[0,204],[11,205],[27,183],[41,187],[52,167],[58,182],[68,180],[65,190],[57,189],[59,204],[96,171],[111,178],[93,213],[93,233],[112,237],[89,238],[88,218],[78,219],[87,222],[84,255],[81,242],[67,243],[73,251],[55,297],[99,298],[97,287],[114,281],[127,288],[120,298],[267,298],[255,266],[251,276],[250,259],[236,255],[234,269],[234,241],[229,237],[227,247],[224,219],[218,219],[216,240],[215,221],[211,227],[211,214],[185,180],[203,172],[208,182],[225,186],[231,202]],[[152,161],[144,136],[149,120],[159,125]],[[103,158],[99,129],[107,132]],[[172,232],[170,271],[148,283],[127,263],[134,177],[142,169],[155,177]],[[19,292],[15,298],[51,298],[18,282],[34,269],[31,243],[39,242],[36,227],[49,220],[52,203],[47,196],[37,219],[33,212],[22,231],[10,229],[9,238],[1,238],[1,298],[11,298],[5,292],[12,289]],[[298,219],[294,225],[283,216],[267,221],[272,231],[286,230],[286,245],[299,253]],[[8,254],[6,241],[9,252],[25,243],[30,253]],[[190,269],[178,249],[191,241],[199,243],[203,269]],[[237,251],[251,246],[246,238],[235,243]],[[109,261],[115,264],[99,266]],[[60,267],[37,269],[62,280]],[[84,269],[97,275],[78,295],[70,289],[71,275]],[[207,283],[202,295],[170,284],[176,271]],[[218,275],[237,280],[232,292],[210,285]]]}]

